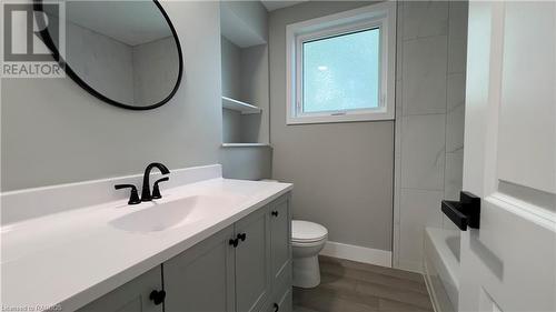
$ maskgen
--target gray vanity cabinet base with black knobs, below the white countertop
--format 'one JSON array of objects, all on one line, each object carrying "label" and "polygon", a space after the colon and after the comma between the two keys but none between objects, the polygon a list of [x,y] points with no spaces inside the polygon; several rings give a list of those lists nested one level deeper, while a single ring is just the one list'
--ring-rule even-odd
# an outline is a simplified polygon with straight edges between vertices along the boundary
[{"label": "gray vanity cabinet base with black knobs, below the white countertop", "polygon": [[79,311],[291,312],[290,221],[285,194]]}]

